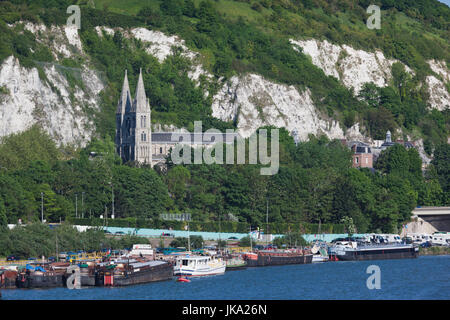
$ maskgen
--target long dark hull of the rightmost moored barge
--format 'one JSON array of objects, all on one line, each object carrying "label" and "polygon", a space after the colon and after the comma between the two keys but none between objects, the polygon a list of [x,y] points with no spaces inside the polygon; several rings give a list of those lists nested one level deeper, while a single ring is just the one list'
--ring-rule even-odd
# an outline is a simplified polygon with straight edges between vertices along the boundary
[{"label": "long dark hull of the rightmost moored barge", "polygon": [[345,251],[336,257],[341,261],[388,260],[388,259],[414,259],[419,256],[417,248],[354,250]]}]

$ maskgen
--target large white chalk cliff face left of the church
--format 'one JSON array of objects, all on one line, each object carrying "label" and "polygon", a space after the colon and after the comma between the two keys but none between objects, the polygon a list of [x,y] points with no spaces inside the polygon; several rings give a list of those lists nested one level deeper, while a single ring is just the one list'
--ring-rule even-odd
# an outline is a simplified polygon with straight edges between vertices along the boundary
[{"label": "large white chalk cliff face left of the church", "polygon": [[100,80],[92,71],[86,72],[90,73],[86,75],[90,80],[84,82],[88,89],[76,88],[71,99],[70,86],[57,68],[49,65],[44,72],[53,88],[39,77],[36,68],[26,69],[12,56],[2,63],[0,86],[9,94],[3,95],[0,103],[0,136],[38,123],[60,143],[85,145],[95,128],[82,107],[97,107],[96,96],[103,89]]}]

